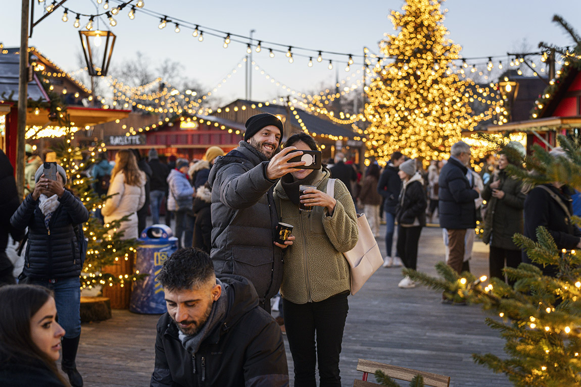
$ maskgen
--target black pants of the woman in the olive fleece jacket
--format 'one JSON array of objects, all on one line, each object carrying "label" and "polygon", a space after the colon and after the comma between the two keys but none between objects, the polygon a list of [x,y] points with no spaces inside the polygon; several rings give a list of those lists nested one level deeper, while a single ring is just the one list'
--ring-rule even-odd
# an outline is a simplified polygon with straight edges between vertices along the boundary
[{"label": "black pants of the woman in the olive fleece jacket", "polygon": [[[295,387],[315,387],[318,361],[319,386],[341,386],[339,354],[349,305],[347,294],[319,302],[296,304],[282,299],[286,337],[295,365]],[[316,343],[315,343],[316,337]]]}]

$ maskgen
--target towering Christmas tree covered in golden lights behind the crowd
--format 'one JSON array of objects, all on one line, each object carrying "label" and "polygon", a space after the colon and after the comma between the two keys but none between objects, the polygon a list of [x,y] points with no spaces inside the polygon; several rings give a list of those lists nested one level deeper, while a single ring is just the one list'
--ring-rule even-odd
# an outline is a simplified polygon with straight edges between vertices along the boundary
[{"label": "towering Christmas tree covered in golden lights behind the crowd", "polygon": [[[400,150],[408,157],[439,160],[461,131],[502,111],[493,90],[466,79],[465,66],[456,68],[461,47],[447,38],[443,2],[407,0],[403,12],[392,10],[389,16],[399,33],[384,34],[383,58],[372,67],[365,88],[366,157],[385,161]],[[485,103],[483,113],[472,112],[475,100]]]}]

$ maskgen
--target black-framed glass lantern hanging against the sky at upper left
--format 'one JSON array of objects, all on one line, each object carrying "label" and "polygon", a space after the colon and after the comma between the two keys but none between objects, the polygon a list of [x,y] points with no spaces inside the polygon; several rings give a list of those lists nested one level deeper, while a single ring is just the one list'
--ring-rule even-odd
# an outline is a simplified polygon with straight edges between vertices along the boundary
[{"label": "black-framed glass lantern hanging against the sky at upper left", "polygon": [[[113,46],[117,38],[115,34],[111,31],[98,30],[78,31],[78,34],[81,38],[81,45],[83,46],[83,54],[85,55],[89,75],[107,75]],[[100,47],[103,44],[103,40],[105,41],[105,45],[103,45],[101,50]],[[101,63],[101,67],[98,67],[99,63]]]}]

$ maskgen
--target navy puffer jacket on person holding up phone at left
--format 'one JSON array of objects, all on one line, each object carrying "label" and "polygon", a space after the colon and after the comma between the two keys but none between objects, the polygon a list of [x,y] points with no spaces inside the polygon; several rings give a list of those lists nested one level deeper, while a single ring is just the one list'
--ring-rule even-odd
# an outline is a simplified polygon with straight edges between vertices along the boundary
[{"label": "navy puffer jacket on person holding up phone at left", "polygon": [[28,227],[24,275],[34,279],[58,279],[81,274],[83,264],[73,226],[85,223],[89,212],[83,203],[65,190],[52,214],[48,229],[39,201],[28,195],[10,218],[15,229]]}]

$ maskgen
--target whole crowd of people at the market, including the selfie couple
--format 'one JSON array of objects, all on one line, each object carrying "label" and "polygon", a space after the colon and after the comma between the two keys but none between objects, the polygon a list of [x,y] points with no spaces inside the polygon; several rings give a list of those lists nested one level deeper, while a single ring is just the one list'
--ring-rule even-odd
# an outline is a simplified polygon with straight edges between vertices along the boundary
[{"label": "whole crowd of people at the market, including the selfie couple", "polygon": [[[458,273],[469,270],[474,229],[482,221],[490,276],[509,283],[503,268],[530,262],[512,234],[535,240],[542,225],[558,248],[581,247],[581,232],[571,223],[571,190],[558,182],[525,189],[506,172],[508,165],[522,167],[519,143],[509,143],[497,162],[488,159],[481,173],[469,168],[471,148],[461,141],[447,161],[433,161],[427,171],[399,151],[383,170],[371,162],[359,171],[341,152],[311,169],[295,159],[320,150],[308,133],[282,143],[282,122],[267,113],[245,126],[243,140],[228,153],[211,146],[203,160],[191,161],[162,160],[155,149],[147,157],[119,150],[111,161],[99,154],[88,171],[95,192],[106,198],[94,216],[123,220],[116,231],[123,238],[137,238],[149,214],[153,224],[161,222],[163,210],[178,238],[179,249],[157,274],[167,313],[157,324],[152,387],[287,386],[283,333],[296,386],[317,385],[317,369],[320,386],[340,386],[350,294],[343,253],[357,243],[360,210],[376,238],[383,216],[385,267],[416,269],[422,228],[436,221],[447,264]],[[69,176],[60,165],[51,178],[42,160],[27,154],[28,167],[34,173],[27,172],[20,202],[12,165],[0,152],[6,187],[0,201],[0,384],[83,386],[76,366],[83,246],[76,234],[89,212],[66,189]],[[284,239],[277,233],[281,225],[292,229]],[[8,234],[27,240],[18,284],[4,252]],[[415,285],[409,277],[398,284]],[[277,294],[278,322],[271,316]],[[442,295],[444,303],[452,299]],[[66,378],[56,368],[59,358]]]}]

